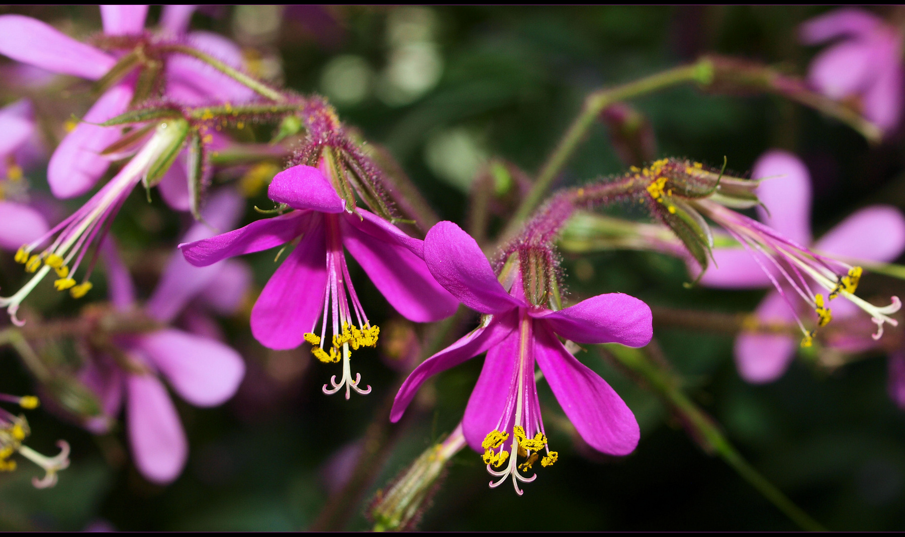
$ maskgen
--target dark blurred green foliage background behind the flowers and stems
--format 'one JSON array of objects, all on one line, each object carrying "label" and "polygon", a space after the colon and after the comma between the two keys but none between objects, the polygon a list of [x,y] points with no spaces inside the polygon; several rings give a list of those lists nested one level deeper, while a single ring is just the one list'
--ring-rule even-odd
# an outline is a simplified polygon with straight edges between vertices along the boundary
[{"label": "dark blurred green foliage background behind the flowers and stems", "polygon": [[[100,29],[96,7],[6,7],[78,36]],[[628,82],[701,53],[735,54],[802,74],[816,50],[796,42],[796,26],[820,7],[205,7],[193,27],[243,45],[252,71],[301,93],[319,92],[342,120],[389,149],[444,219],[462,224],[475,173],[491,157],[533,173],[575,117],[587,92]],[[150,19],[159,14],[152,7]],[[882,14],[882,13],[881,13]],[[812,110],[762,95],[706,95],[681,87],[633,101],[651,121],[659,156],[710,165],[729,159],[746,173],[770,148],[795,151],[814,177],[814,234],[854,209],[882,201],[905,206],[902,139],[877,147]],[[577,184],[625,168],[603,124],[592,129],[557,185]],[[33,186],[46,189],[40,174]],[[227,176],[220,177],[226,180]],[[141,292],[187,224],[155,198],[136,192],[114,233],[132,259]],[[249,202],[265,206],[258,194]],[[77,206],[73,204],[71,206]],[[245,222],[259,217],[253,210]],[[140,254],[140,257],[139,257]],[[249,256],[259,286],[272,253]],[[576,264],[580,267],[576,268]],[[658,254],[609,253],[564,260],[574,297],[627,292],[654,305],[750,311],[761,292],[687,290],[681,262]],[[18,282],[11,259],[4,287]],[[363,274],[353,273],[368,315],[382,327],[400,321]],[[580,275],[581,278],[576,277]],[[98,279],[100,280],[100,278]],[[99,289],[102,285],[99,283]],[[865,278],[869,295],[903,295],[905,284]],[[95,296],[103,296],[99,291]],[[51,299],[50,315],[81,304]],[[465,331],[474,319],[458,330]],[[471,323],[471,324],[469,324]],[[52,452],[73,446],[60,484],[36,491],[32,467],[0,475],[0,526],[81,530],[289,531],[306,528],[331,490],[348,476],[348,460],[374,408],[393,388],[386,345],[364,350],[356,366],[374,387],[367,397],[328,398],[320,386],[336,371],[307,352],[268,351],[252,340],[247,318],[223,321],[249,364],[237,396],[223,408],[177,401],[191,454],[166,488],[148,484],[129,462],[120,426],[95,438],[43,410],[32,412],[29,444]],[[423,329],[416,329],[420,333]],[[389,338],[382,331],[385,343]],[[725,428],[748,460],[806,512],[833,530],[905,530],[905,413],[886,395],[886,363],[865,356],[833,372],[798,360],[766,386],[738,379],[726,335],[657,331],[686,388]],[[11,350],[2,350],[0,392],[30,393],[33,381]],[[541,469],[522,497],[508,485],[487,487],[478,455],[458,455],[421,529],[477,530],[791,530],[795,526],[729,466],[703,453],[658,398],[591,353],[582,357],[624,397],[642,427],[638,449],[624,458],[588,454],[541,388],[551,449],[559,462]],[[426,446],[448,433],[462,411],[481,360],[441,375],[419,399],[422,411],[400,433],[363,500]],[[348,528],[370,527],[364,505]]]}]

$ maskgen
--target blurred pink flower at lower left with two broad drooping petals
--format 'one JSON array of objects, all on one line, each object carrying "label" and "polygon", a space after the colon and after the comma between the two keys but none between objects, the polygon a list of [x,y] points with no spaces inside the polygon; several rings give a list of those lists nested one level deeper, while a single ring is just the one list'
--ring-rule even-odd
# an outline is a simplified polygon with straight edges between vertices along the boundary
[{"label": "blurred pink flower at lower left with two broad drooping petals", "polygon": [[[205,207],[205,220],[212,226],[231,227],[241,209],[241,198],[224,191]],[[195,224],[186,236],[199,235],[212,235],[210,227]],[[135,308],[129,272],[110,242],[105,248],[110,301],[120,312],[129,312]],[[224,268],[224,263],[196,268],[182,255],[174,255],[144,312],[161,324],[171,323],[195,295],[212,285],[223,288],[220,277]],[[159,377],[166,378],[176,393],[195,407],[215,407],[233,397],[245,364],[224,343],[173,328],[120,337],[115,343],[121,350],[119,359],[98,356],[81,371],[81,380],[98,395],[102,408],[102,415],[85,425],[97,434],[107,432],[125,399],[129,446],[138,470],[150,481],[169,483],[186,465],[188,443]]]}]

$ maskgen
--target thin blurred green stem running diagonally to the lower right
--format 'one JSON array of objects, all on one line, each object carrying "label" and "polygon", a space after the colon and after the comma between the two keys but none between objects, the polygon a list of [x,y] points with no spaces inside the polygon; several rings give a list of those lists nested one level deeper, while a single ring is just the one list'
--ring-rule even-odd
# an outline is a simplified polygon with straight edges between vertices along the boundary
[{"label": "thin blurred green stem running diagonally to the lower right", "polygon": [[[645,350],[630,349],[614,343],[601,345],[598,348],[641,376],[648,386],[681,417],[689,428],[691,436],[706,452],[719,455],[748,484],[757,489],[757,492],[763,494],[770,503],[785,513],[792,522],[806,531],[826,531],[820,523],[792,503],[786,494],[783,494],[774,484],[767,481],[766,477],[760,475],[753,466],[748,464],[748,461],[729,443],[729,439],[719,429],[719,426],[681,391],[681,380],[665,365],[658,363],[662,360],[652,360]],[[651,350],[648,349],[647,352],[649,353]]]}]

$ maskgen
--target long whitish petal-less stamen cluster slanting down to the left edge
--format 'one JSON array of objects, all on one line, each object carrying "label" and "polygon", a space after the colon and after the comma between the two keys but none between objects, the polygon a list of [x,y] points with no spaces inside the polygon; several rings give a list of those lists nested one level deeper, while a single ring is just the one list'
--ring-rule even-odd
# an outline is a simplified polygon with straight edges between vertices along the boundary
[{"label": "long whitish petal-less stamen cluster slanting down to the left edge", "polygon": [[[15,324],[19,326],[23,324],[23,321],[16,318],[19,305],[51,271],[57,275],[57,280],[53,283],[57,291],[69,290],[72,298],[81,298],[90,291],[91,283],[88,279],[97,256],[97,249],[88,270],[81,278],[81,283],[76,283],[72,274],[78,270],[91,245],[100,245],[110,229],[113,216],[119,212],[119,207],[129,197],[132,189],[147,176],[148,170],[161,155],[173,150],[176,139],[180,136],[185,138],[185,131],[174,132],[179,129],[168,126],[167,122],[159,123],[155,133],[138,150],[135,157],[129,160],[116,177],[100,188],[85,205],[45,235],[19,248],[15,260],[25,265],[26,272],[35,274],[13,296],[0,297],[0,307],[7,309]],[[47,246],[41,249],[42,245]]]}]

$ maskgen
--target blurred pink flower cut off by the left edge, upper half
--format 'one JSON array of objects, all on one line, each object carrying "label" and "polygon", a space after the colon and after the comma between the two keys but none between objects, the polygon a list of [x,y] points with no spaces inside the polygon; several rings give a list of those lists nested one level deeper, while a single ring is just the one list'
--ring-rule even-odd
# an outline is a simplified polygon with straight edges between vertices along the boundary
[{"label": "blurred pink flower cut off by the left edge, upper half", "polygon": [[24,203],[27,193],[22,153],[34,133],[29,101],[15,101],[0,109],[0,248],[6,250],[15,250],[47,233],[43,215]]}]

